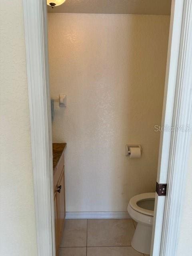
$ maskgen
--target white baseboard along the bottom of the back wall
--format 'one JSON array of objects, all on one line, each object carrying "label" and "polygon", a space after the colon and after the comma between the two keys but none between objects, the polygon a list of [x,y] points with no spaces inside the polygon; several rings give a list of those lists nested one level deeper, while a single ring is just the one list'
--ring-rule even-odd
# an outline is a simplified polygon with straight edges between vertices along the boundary
[{"label": "white baseboard along the bottom of the back wall", "polygon": [[66,219],[130,219],[128,212],[66,212]]}]

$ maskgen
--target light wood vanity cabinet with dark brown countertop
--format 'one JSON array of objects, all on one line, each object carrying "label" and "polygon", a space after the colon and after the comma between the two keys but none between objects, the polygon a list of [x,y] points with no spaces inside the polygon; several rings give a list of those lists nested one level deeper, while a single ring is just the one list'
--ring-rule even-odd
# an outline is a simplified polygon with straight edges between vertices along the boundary
[{"label": "light wood vanity cabinet with dark brown countertop", "polygon": [[60,246],[65,220],[65,172],[64,149],[66,143],[53,143],[53,183],[54,183],[54,215],[56,256]]}]

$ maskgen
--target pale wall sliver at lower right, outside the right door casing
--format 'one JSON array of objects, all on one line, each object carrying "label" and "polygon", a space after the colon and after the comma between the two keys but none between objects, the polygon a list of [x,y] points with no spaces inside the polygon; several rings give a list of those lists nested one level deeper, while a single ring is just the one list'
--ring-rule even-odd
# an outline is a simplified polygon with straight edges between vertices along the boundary
[{"label": "pale wall sliver at lower right, outside the right door casing", "polygon": [[192,134],[190,143],[190,157],[186,184],[184,184],[184,204],[178,242],[177,256],[188,256],[192,252]]}]

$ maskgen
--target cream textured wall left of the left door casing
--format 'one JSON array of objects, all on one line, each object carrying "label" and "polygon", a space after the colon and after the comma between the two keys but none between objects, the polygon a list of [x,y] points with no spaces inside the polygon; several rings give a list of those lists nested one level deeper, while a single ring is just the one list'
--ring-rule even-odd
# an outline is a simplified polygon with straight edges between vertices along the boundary
[{"label": "cream textured wall left of the left door casing", "polygon": [[36,256],[22,0],[0,1],[0,255]]}]

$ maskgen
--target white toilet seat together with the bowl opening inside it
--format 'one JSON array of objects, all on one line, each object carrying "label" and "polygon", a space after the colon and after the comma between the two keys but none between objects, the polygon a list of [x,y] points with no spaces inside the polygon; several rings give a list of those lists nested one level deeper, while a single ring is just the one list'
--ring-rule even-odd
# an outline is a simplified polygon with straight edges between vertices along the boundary
[{"label": "white toilet seat together with the bowl opening inside it", "polygon": [[[155,193],[144,193],[134,196],[130,199],[130,206],[137,212],[141,212],[146,215],[154,215],[154,199]],[[141,207],[143,205],[143,207]],[[153,209],[153,210],[152,210]]]}]

